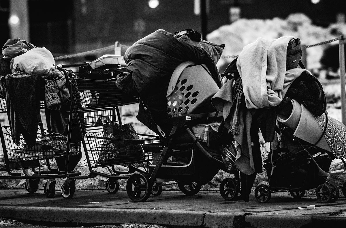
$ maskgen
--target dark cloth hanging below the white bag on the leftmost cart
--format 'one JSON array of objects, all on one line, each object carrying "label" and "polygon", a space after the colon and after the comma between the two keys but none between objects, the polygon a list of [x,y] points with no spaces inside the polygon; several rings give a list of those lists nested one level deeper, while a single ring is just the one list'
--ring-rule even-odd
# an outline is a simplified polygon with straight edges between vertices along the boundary
[{"label": "dark cloth hanging below the white bag on the leftmost cart", "polygon": [[18,145],[20,133],[28,147],[36,142],[40,120],[40,80],[39,76],[7,78],[7,116],[12,139]]}]

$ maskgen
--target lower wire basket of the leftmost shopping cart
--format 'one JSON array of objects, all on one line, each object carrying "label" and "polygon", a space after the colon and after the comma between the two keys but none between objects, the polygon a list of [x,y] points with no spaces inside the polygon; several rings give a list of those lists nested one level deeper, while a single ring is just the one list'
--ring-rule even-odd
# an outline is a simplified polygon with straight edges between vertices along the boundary
[{"label": "lower wire basket of the leftmost shopping cart", "polygon": [[[22,135],[18,145],[11,136],[9,126],[1,127],[1,142],[4,152],[5,164],[8,163],[10,169],[20,169],[28,167],[38,167],[39,160],[58,158],[65,155],[67,137],[62,135],[48,134],[47,130],[37,133],[37,141],[32,147],[28,147]],[[70,155],[81,152],[81,143],[70,144]],[[36,162],[35,162],[36,161]],[[4,168],[4,167],[0,167]]]}]

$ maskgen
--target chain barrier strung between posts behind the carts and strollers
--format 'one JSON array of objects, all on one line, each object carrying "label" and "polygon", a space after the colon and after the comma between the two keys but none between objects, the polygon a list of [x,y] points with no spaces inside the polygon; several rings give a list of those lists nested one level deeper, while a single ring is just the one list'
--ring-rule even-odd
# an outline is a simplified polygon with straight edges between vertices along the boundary
[{"label": "chain barrier strung between posts behind the carts and strollers", "polygon": [[[315,47],[315,46],[319,46],[319,45],[323,45],[323,44],[328,44],[328,43],[331,43],[331,42],[334,42],[334,41],[338,41],[338,40],[342,40],[342,39],[343,39],[343,37],[340,36],[340,37],[335,38],[333,40],[324,41],[324,42],[320,42],[320,43],[317,43],[317,44],[306,45],[306,46],[303,46],[303,47],[304,48]],[[128,49],[128,47],[129,47],[129,46],[126,46],[126,45],[123,45],[123,44],[118,44],[118,45],[120,47],[124,47],[125,49]],[[63,59],[70,59],[70,58],[74,58],[74,57],[85,56],[85,55],[94,54],[94,53],[101,52],[101,51],[106,51],[108,49],[112,49],[112,48],[114,48],[114,46],[115,45],[110,45],[110,46],[101,47],[101,48],[95,49],[95,50],[90,50],[90,51],[85,51],[85,52],[80,52],[80,53],[75,53],[75,54],[69,54],[69,55],[61,55],[61,56],[54,57],[54,59],[55,60],[63,60]],[[229,59],[229,58],[235,59],[238,56],[239,55],[222,55],[221,58],[223,58],[223,59]]]}]

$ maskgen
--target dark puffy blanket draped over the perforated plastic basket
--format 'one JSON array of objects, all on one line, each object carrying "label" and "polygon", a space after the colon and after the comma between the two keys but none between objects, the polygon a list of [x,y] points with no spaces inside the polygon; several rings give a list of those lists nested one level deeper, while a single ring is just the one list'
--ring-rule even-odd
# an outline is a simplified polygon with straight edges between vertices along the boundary
[{"label": "dark puffy blanket draped over the perforated plastic basket", "polygon": [[[217,48],[221,55],[223,46]],[[216,62],[211,55],[205,49],[179,40],[163,29],[130,46],[125,52],[124,60],[129,72],[125,77],[131,77],[132,80],[119,78],[117,86],[127,93],[131,93],[129,88],[135,88],[136,91],[132,94],[139,94],[158,125],[164,125],[164,120],[168,118],[166,93],[172,73],[180,63],[193,61],[196,64],[206,64],[220,86]],[[138,115],[140,118],[141,114]]]}]

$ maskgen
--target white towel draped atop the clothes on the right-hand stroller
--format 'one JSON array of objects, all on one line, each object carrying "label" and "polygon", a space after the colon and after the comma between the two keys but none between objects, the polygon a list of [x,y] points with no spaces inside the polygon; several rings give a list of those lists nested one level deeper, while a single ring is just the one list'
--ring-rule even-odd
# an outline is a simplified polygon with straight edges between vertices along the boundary
[{"label": "white towel draped atop the clothes on the right-hand stroller", "polygon": [[294,79],[305,69],[286,72],[286,53],[293,36],[275,40],[258,37],[246,45],[237,59],[237,69],[243,80],[247,108],[274,107],[282,101]]}]

